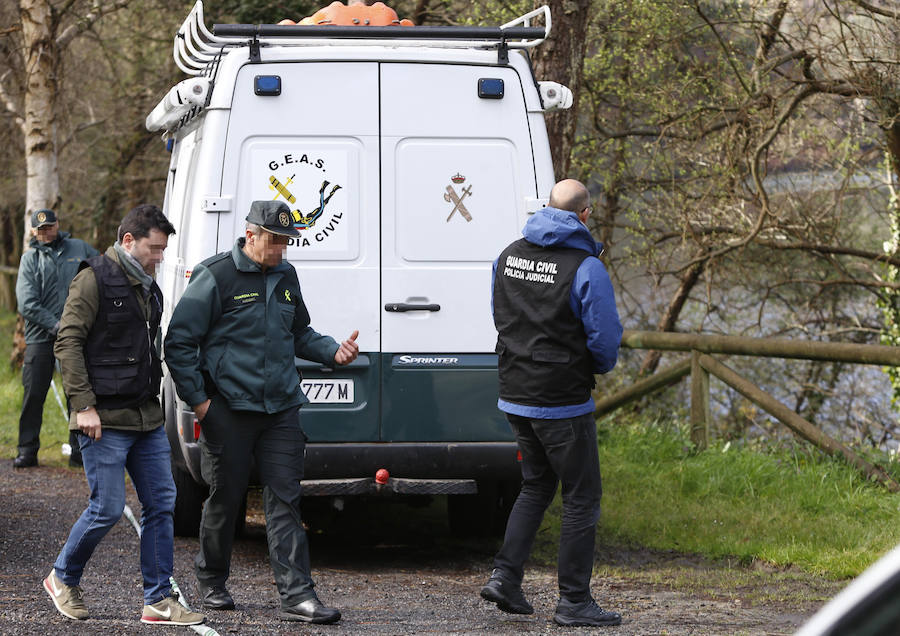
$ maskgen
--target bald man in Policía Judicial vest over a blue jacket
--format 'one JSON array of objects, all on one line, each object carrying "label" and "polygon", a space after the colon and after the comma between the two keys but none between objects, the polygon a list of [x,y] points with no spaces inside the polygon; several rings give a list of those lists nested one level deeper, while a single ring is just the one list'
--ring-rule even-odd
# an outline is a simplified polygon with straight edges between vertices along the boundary
[{"label": "bald man in Polic\u00eda Judicial vest over a blue jacket", "polygon": [[600,519],[600,461],[591,389],[616,364],[622,326],[613,288],[585,223],[587,188],[574,179],[550,191],[550,205],[528,219],[493,274],[500,376],[498,406],[522,455],[516,499],[482,598],[504,612],[531,614],[522,593],[524,564],[544,511],[562,482],[559,603],[566,626],[618,625],[591,596],[594,534]]}]

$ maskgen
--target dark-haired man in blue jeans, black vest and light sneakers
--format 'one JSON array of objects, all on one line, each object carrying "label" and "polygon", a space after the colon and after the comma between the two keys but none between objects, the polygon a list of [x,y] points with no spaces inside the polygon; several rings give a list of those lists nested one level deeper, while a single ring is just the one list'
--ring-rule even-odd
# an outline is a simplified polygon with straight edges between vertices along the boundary
[{"label": "dark-haired man in blue jeans, black vest and light sneakers", "polygon": [[119,226],[105,254],[82,263],[72,281],[54,352],[90,486],[88,507],[44,579],[68,618],[88,618],[80,587],[88,560],[125,508],[125,472],[141,502],[141,622],[196,625],[203,616],[172,594],[175,482],[159,404],[162,377],[156,337],[162,292],[154,280],[175,228],[153,205]]}]

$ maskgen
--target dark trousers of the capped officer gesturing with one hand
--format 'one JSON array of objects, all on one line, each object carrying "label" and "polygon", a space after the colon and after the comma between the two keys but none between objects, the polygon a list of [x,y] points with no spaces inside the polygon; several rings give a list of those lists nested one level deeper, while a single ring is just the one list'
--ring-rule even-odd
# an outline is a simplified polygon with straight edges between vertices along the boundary
[{"label": "dark trousers of the capped officer gesturing with one hand", "polygon": [[203,478],[210,485],[200,522],[197,580],[224,585],[231,572],[234,524],[256,459],[263,484],[269,559],[283,607],[315,596],[309,544],[300,520],[300,480],[306,436],[297,408],[266,414],[232,411],[221,396],[212,398],[200,423]]}]

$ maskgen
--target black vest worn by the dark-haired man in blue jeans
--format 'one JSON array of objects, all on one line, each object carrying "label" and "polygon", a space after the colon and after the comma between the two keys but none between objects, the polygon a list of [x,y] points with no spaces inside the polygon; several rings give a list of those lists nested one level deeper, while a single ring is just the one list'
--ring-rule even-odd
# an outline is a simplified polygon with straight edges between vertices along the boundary
[{"label": "black vest worn by the dark-haired man in blue jeans", "polygon": [[100,304],[84,345],[91,388],[98,409],[137,407],[159,395],[162,365],[152,340],[159,330],[162,292],[150,288],[150,317],[122,268],[108,256],[81,263],[97,279]]}]

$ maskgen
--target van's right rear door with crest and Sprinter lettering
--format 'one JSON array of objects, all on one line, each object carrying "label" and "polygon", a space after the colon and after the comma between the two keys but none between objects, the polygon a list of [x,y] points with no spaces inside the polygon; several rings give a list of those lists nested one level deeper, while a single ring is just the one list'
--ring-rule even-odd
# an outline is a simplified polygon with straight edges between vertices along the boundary
[{"label": "van's right rear door with crest and Sprinter lettering", "polygon": [[536,196],[515,69],[383,63],[381,172],[381,438],[512,439],[491,264]]}]

